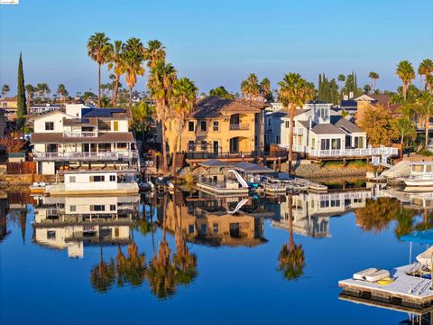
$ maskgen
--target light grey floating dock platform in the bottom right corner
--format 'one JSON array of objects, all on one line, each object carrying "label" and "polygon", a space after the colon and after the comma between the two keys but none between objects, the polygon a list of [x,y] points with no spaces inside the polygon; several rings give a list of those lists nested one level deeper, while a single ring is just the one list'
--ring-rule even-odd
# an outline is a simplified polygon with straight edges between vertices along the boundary
[{"label": "light grey floating dock platform in the bottom right corner", "polygon": [[431,280],[406,274],[412,268],[413,265],[404,265],[393,269],[391,275],[395,281],[386,285],[346,279],[339,281],[338,286],[343,289],[343,295],[352,300],[360,298],[400,306],[401,309],[423,310],[433,305]]}]

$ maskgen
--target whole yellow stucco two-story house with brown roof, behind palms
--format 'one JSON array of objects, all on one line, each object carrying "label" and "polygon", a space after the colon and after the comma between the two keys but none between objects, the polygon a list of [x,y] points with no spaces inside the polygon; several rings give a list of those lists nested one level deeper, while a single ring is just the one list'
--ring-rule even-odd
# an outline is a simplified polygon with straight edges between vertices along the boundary
[{"label": "whole yellow stucco two-story house with brown roof, behind palms", "polygon": [[[266,104],[207,97],[198,101],[181,136],[178,152],[251,153],[263,150]],[[175,119],[167,124],[166,138],[173,153]]]}]

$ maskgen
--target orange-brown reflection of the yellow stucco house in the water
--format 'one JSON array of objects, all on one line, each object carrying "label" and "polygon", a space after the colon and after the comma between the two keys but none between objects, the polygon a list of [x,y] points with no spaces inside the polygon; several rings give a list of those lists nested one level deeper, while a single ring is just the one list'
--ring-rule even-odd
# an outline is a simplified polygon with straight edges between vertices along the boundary
[{"label": "orange-brown reflection of the yellow stucco house in the water", "polygon": [[[252,198],[216,198],[199,192],[198,197],[176,194],[166,204],[166,227],[174,232],[180,227],[189,242],[207,246],[258,246],[263,238],[263,216],[244,212]],[[243,204],[241,209],[236,206]],[[162,220],[161,210],[158,219]]]}]

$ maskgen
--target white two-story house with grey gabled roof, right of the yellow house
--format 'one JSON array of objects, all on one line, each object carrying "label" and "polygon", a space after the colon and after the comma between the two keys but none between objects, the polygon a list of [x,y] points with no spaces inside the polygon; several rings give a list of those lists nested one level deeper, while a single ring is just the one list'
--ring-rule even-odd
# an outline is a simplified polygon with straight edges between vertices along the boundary
[{"label": "white two-story house with grey gabled roof, right of the yellow house", "polygon": [[[309,102],[296,110],[293,150],[309,157],[345,158],[397,154],[394,148],[369,148],[367,135],[354,123],[334,111],[332,104]],[[290,115],[285,110],[265,116],[266,144],[289,146]]]}]

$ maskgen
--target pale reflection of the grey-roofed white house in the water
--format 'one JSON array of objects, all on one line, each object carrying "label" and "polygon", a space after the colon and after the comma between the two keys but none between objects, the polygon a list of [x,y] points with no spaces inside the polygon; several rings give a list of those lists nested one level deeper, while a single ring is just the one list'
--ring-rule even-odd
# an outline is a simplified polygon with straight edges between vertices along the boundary
[{"label": "pale reflection of the grey-roofed white house in the water", "polygon": [[[334,193],[292,194],[293,232],[308,237],[331,237],[329,219],[354,209],[363,208],[372,198],[371,190]],[[280,219],[272,221],[275,228],[289,228],[287,197],[280,204]]]}]

